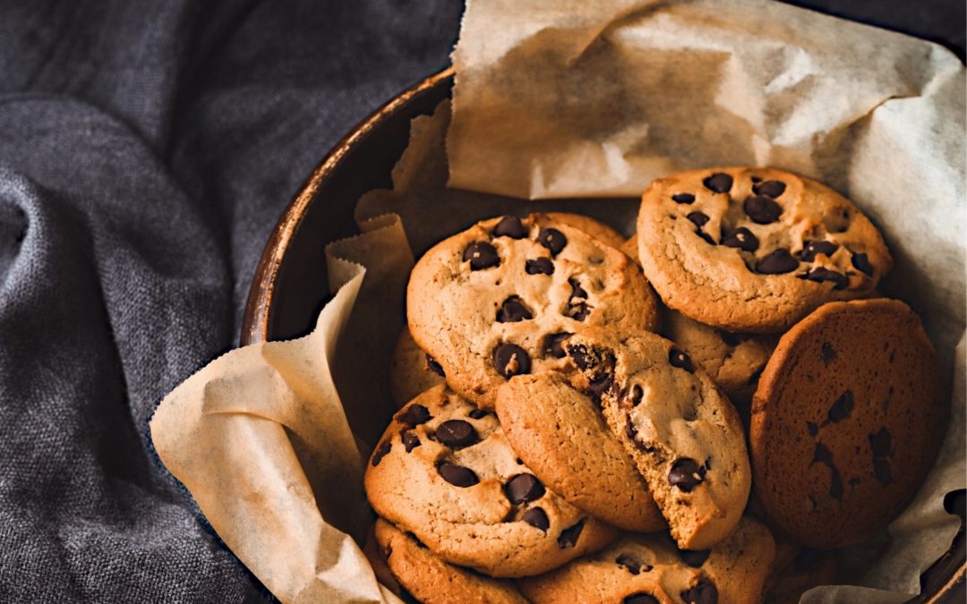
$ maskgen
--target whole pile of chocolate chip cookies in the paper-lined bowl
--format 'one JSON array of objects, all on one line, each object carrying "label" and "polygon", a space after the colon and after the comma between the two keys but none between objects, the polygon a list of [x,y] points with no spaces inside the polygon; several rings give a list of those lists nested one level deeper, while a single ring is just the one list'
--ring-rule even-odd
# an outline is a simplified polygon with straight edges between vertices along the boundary
[{"label": "whole pile of chocolate chip cookies in the paper-lined bowl", "polygon": [[891,257],[769,168],[656,181],[637,234],[495,217],[407,291],[374,448],[381,582],[434,602],[798,601],[882,532],[943,434]]}]

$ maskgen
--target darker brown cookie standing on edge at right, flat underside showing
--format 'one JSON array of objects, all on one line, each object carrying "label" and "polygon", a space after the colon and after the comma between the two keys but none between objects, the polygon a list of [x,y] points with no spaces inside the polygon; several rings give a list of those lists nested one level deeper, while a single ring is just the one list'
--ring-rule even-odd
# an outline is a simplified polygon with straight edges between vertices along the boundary
[{"label": "darker brown cookie standing on edge at right, flat underside showing", "polygon": [[913,499],[946,417],[936,354],[906,304],[825,304],[779,339],[753,396],[758,499],[806,545],[861,543]]}]

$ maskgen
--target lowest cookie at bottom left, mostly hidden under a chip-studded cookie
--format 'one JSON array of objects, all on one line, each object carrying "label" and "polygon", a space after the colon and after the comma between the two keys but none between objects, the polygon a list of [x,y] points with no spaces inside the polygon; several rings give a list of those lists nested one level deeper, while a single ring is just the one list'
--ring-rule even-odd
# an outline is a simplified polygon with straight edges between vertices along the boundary
[{"label": "lowest cookie at bottom left, mostly hidden under a chip-studded cookie", "polygon": [[414,536],[405,534],[382,518],[376,520],[373,532],[379,555],[393,573],[394,581],[417,601],[424,604],[527,604],[512,582],[484,577],[448,564],[430,553]]}]

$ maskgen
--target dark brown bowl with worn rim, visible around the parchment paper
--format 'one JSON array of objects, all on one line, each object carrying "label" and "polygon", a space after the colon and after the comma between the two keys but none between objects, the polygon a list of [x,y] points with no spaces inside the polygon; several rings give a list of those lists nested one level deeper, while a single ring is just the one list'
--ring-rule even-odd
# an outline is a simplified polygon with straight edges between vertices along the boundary
[{"label": "dark brown bowl with worn rim, visible around the parchment paper", "polygon": [[[409,137],[410,120],[429,114],[450,97],[454,71],[430,75],[399,94],[352,129],[309,175],[278,219],[249,289],[242,343],[308,333],[329,301],[326,244],[359,231],[356,201],[367,190],[392,186],[390,173]],[[911,602],[965,600],[964,491],[947,497],[948,511],[961,518],[950,551],[921,577],[923,595]]]}]

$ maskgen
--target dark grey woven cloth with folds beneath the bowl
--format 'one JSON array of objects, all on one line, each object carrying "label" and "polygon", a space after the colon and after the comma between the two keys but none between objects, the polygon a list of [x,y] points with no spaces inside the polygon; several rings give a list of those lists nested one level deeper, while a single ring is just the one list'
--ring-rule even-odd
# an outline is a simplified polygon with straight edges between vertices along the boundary
[{"label": "dark grey woven cloth with folds beneath the bowl", "polygon": [[[964,56],[962,0],[795,4]],[[0,0],[0,600],[257,598],[148,418],[235,345],[289,197],[448,63],[461,11]]]}]

